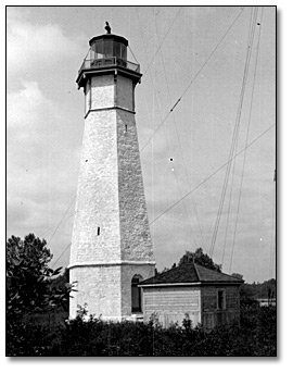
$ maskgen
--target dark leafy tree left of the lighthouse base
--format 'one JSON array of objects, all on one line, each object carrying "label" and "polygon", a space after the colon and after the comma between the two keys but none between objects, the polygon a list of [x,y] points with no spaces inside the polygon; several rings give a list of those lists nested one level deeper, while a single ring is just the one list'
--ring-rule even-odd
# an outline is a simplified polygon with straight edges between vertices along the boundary
[{"label": "dark leafy tree left of the lighthouse base", "polygon": [[12,236],[7,243],[7,306],[8,315],[23,315],[46,310],[68,300],[72,285],[52,288],[61,268],[52,270],[52,259],[44,239],[28,234],[24,240]]}]

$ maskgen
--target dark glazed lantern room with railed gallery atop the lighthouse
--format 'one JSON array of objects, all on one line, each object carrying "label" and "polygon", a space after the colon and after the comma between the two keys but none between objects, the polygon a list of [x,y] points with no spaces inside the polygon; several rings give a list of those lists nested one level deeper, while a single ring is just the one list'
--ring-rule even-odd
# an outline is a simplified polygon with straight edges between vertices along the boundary
[{"label": "dark glazed lantern room with railed gallery atop the lighthouse", "polygon": [[123,36],[105,34],[89,40],[90,49],[78,71],[78,88],[85,87],[92,74],[115,73],[128,76],[135,84],[140,82],[140,66],[127,60],[128,40]]}]

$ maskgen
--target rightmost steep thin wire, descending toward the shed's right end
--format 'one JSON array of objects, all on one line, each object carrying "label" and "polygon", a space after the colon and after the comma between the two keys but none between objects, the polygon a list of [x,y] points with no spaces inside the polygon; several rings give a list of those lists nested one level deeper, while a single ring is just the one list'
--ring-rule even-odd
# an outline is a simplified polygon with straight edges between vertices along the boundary
[{"label": "rightmost steep thin wire, descending toward the shed's right end", "polygon": [[[257,15],[257,13],[256,13],[256,15]],[[259,42],[260,42],[260,34],[262,34],[263,15],[264,15],[264,8],[262,8],[262,15],[260,15],[260,22],[259,22],[259,33],[258,33],[258,40],[257,40],[257,46],[256,46],[255,67],[254,67],[254,75],[253,75],[253,88],[252,88],[252,96],[251,96],[251,104],[250,104],[250,114],[249,114],[249,124],[247,124],[247,129],[246,129],[245,146],[249,142],[250,128],[251,128],[252,110],[253,110],[253,102],[254,102],[253,99],[254,99],[254,90],[255,90],[255,82],[256,82],[258,54],[259,54]],[[240,202],[241,202],[241,196],[242,196],[242,186],[243,186],[245,163],[246,163],[246,151],[244,152],[243,162],[242,162],[240,190],[239,190],[239,196],[238,196],[237,215],[235,215],[235,224],[234,224],[234,232],[233,232],[232,252],[231,252],[231,259],[230,259],[230,265],[229,265],[229,273],[231,273],[231,268],[232,268],[232,262],[233,262],[235,236],[237,236],[237,228],[238,228],[238,220],[239,220]]]}]

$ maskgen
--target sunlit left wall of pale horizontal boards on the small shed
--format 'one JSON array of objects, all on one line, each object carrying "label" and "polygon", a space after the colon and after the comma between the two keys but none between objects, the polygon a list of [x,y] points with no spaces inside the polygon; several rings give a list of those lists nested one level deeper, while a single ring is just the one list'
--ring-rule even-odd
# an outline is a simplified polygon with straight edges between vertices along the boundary
[{"label": "sunlit left wall of pale horizontal boards on the small shed", "polygon": [[164,327],[182,320],[189,314],[195,326],[201,322],[200,289],[196,287],[153,287],[143,288],[143,314],[148,322],[152,315]]}]

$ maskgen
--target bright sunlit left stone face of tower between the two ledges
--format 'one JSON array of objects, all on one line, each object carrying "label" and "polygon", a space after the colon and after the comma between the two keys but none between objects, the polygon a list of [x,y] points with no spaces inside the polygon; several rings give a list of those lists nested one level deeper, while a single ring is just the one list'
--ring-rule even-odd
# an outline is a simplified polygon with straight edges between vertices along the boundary
[{"label": "bright sunlit left stone face of tower between the two ledges", "polygon": [[90,112],[85,124],[71,265],[120,260],[116,144],[115,110]]}]

